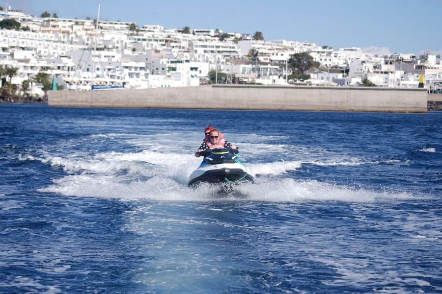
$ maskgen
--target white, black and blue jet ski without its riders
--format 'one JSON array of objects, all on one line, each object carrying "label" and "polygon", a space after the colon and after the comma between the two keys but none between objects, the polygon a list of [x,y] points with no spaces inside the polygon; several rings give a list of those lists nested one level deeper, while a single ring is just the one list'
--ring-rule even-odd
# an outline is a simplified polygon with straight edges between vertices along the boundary
[{"label": "white, black and blue jet ski without its riders", "polygon": [[238,149],[214,148],[200,151],[204,156],[201,165],[192,172],[188,186],[200,182],[237,183],[253,181],[253,174],[241,162]]}]

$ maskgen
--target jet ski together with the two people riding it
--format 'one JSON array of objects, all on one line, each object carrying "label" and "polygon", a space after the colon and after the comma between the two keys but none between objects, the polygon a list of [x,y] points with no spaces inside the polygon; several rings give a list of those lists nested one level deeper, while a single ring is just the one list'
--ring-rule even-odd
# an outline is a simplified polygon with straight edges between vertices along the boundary
[{"label": "jet ski together with the two people riding it", "polygon": [[[253,181],[250,170],[238,157],[238,149],[231,143],[220,139],[217,129],[210,131],[210,142],[204,140],[203,144],[195,152],[195,156],[204,156],[201,165],[192,172],[188,185],[199,182],[220,183]],[[206,137],[207,138],[207,137]]]}]

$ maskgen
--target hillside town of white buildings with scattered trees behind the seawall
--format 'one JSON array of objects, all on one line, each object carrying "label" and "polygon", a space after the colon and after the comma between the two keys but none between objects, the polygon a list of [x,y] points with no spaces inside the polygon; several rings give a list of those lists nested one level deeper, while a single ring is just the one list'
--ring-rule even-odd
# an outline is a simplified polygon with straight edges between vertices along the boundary
[{"label": "hillside town of white buildings with scattered trees behind the seawall", "polygon": [[442,93],[441,56],[430,50],[378,56],[267,41],[259,31],[34,17],[10,7],[0,11],[0,26],[1,87],[20,95],[209,83],[417,88],[420,74],[430,93]]}]

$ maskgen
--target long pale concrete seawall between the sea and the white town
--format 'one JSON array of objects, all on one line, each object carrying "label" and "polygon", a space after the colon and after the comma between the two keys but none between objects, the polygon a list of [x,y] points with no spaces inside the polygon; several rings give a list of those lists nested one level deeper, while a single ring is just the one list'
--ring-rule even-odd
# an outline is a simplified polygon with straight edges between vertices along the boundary
[{"label": "long pale concrete seawall between the sea and the white town", "polygon": [[50,106],[238,110],[427,112],[424,89],[206,85],[199,87],[51,91]]}]

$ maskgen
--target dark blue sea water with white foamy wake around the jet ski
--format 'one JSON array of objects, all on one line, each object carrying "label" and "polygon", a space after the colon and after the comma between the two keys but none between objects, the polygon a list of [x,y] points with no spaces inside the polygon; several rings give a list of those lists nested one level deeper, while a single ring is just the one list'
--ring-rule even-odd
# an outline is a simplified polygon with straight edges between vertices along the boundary
[{"label": "dark blue sea water with white foamy wake around the jet ski", "polygon": [[[207,125],[255,183],[187,187]],[[0,293],[442,293],[441,125],[0,105]]]}]

